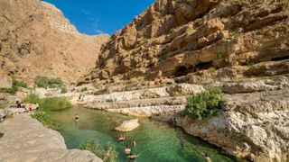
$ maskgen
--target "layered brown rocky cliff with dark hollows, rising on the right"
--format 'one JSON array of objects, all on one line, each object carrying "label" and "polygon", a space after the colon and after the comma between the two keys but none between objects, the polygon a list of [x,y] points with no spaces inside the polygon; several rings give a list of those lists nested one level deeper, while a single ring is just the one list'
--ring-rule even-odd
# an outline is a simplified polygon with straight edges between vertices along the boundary
[{"label": "layered brown rocky cliff with dark hollows, rising on the right", "polygon": [[[289,58],[288,26],[287,0],[157,0],[111,37],[86,79],[275,75],[266,63]],[[288,72],[288,62],[278,66]]]}]

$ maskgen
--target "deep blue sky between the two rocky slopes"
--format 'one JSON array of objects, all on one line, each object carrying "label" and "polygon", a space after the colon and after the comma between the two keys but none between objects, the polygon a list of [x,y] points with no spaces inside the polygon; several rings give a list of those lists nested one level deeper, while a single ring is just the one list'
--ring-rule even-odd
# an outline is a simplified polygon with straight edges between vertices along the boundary
[{"label": "deep blue sky between the two rocky slopes", "polygon": [[74,24],[89,35],[122,29],[155,0],[44,0],[54,4]]}]

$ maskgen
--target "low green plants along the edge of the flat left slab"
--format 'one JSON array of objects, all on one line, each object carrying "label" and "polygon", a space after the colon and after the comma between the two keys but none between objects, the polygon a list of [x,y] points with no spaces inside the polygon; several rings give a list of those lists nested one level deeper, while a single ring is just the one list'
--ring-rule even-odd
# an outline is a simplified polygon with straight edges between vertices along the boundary
[{"label": "low green plants along the edge of the flat left slab", "polygon": [[42,124],[52,130],[60,130],[61,126],[54,120],[48,112],[34,112],[31,115],[34,119],[41,121]]}]

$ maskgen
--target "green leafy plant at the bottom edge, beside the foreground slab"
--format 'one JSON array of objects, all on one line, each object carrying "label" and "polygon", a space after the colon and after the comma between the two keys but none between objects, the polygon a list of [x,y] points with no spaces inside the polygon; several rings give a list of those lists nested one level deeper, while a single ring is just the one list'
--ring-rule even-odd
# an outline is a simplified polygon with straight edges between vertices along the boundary
[{"label": "green leafy plant at the bottom edge, beside the foreground slab", "polygon": [[84,141],[79,145],[79,149],[86,149],[103,159],[105,162],[116,162],[117,151],[113,144],[108,143],[107,147],[102,147],[94,139]]}]

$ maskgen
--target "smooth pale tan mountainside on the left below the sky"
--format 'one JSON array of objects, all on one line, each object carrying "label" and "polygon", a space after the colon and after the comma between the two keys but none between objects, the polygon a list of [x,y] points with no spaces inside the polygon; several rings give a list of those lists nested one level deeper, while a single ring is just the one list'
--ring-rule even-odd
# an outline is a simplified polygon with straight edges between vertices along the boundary
[{"label": "smooth pale tan mountainside on the left below the sky", "polygon": [[32,82],[37,75],[73,82],[94,67],[107,34],[79,33],[52,4],[0,1],[0,73]]}]

